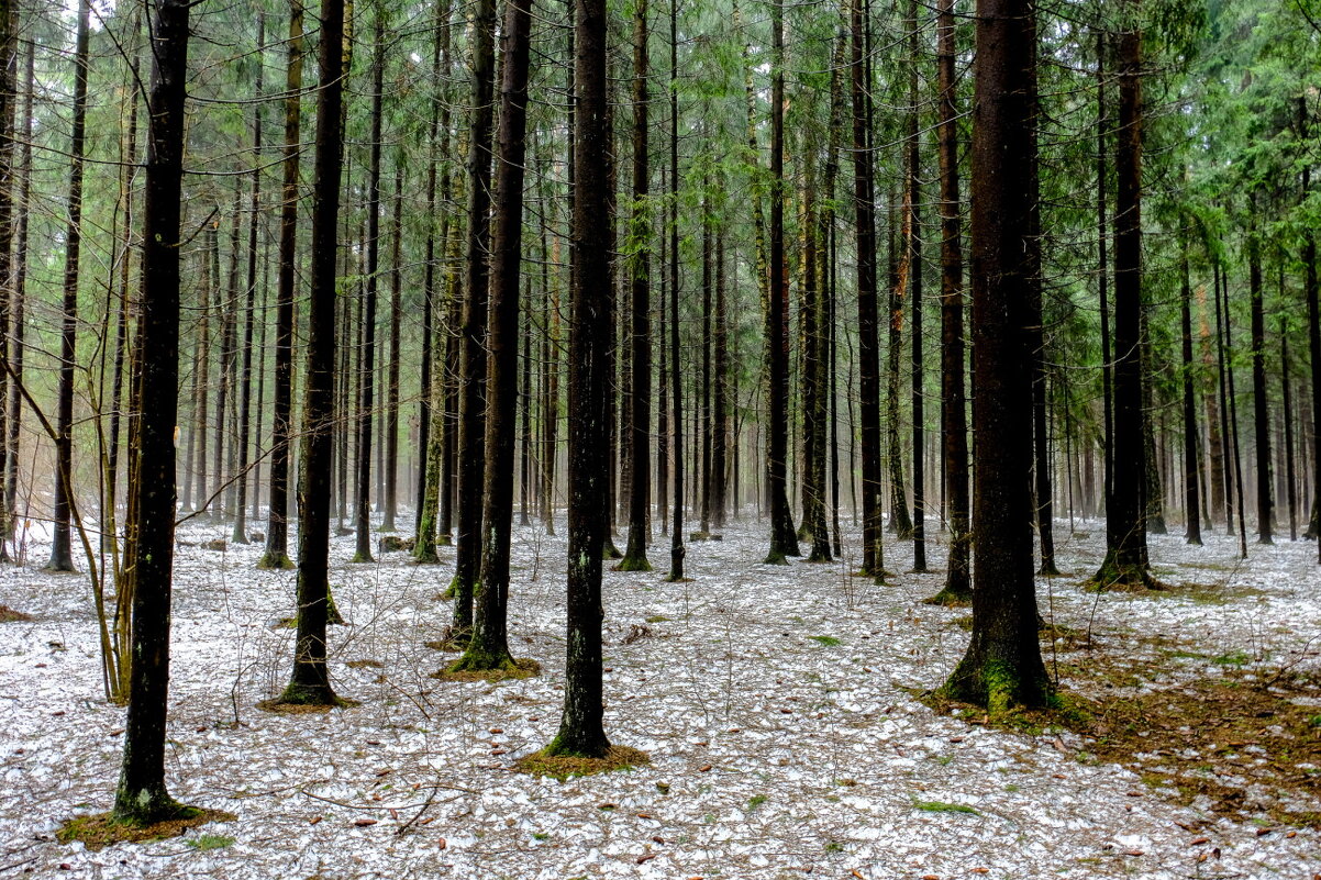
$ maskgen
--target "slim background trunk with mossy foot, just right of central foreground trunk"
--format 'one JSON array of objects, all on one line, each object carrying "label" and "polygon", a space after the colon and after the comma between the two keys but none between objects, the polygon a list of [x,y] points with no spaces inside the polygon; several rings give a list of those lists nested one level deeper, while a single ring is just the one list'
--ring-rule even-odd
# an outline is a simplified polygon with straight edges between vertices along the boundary
[{"label": "slim background trunk with mossy foot, just right of central foreground trunk", "polygon": [[633,314],[629,452],[629,540],[621,571],[651,571],[647,560],[647,514],[651,510],[651,201],[647,163],[647,0],[633,13],[633,230],[629,277]]}]

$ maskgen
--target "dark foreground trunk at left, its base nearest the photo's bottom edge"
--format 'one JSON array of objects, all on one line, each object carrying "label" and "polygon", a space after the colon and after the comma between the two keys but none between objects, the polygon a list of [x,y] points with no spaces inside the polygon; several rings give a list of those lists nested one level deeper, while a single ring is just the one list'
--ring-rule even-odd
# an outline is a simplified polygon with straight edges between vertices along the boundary
[{"label": "dark foreground trunk at left, its base nearest the photo's bottom edge", "polygon": [[[143,203],[143,296],[137,400],[143,418],[131,448],[128,530],[133,572],[132,671],[124,760],[114,817],[149,825],[196,813],[165,788],[165,695],[174,562],[174,416],[178,408],[180,202],[188,73],[186,0],[159,0],[152,30],[147,188]],[[86,5],[83,7],[86,11]],[[149,342],[149,344],[148,344]]]}]

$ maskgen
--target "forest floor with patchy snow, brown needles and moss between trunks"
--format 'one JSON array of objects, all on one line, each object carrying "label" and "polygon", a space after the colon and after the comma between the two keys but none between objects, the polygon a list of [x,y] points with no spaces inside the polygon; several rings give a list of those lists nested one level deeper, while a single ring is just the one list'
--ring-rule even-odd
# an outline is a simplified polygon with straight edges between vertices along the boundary
[{"label": "forest floor with patchy snow, brown needles and moss between trunks", "polygon": [[[411,522],[406,517],[403,522]],[[847,525],[847,523],[845,523]],[[338,692],[325,715],[256,708],[289,674],[293,573],[260,546],[180,531],[166,776],[232,813],[185,836],[89,851],[55,832],[108,809],[123,710],[102,694],[86,576],[0,568],[0,876],[226,877],[1289,877],[1321,875],[1321,569],[1316,544],[1153,536],[1159,593],[1095,593],[1104,527],[1057,523],[1041,579],[1058,716],[989,725],[933,710],[967,609],[942,575],[884,587],[834,564],[760,563],[765,526],[688,546],[691,581],[605,577],[606,729],[651,762],[555,781],[515,770],[563,700],[564,539],[515,529],[510,641],[542,675],[429,675],[449,618],[407,554],[332,581]],[[563,530],[561,530],[563,534]],[[930,543],[931,567],[945,550]]]}]

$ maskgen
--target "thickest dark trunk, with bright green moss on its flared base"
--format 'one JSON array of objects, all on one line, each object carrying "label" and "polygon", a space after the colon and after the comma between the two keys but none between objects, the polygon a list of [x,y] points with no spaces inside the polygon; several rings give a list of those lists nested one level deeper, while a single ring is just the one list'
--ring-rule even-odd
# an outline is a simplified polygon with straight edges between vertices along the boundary
[{"label": "thickest dark trunk, with bright green moss on its flared base", "polygon": [[1050,680],[1032,573],[1030,326],[1036,16],[1026,0],[978,0],[972,118],[972,640],[945,684],[1004,711],[1038,707]]}]

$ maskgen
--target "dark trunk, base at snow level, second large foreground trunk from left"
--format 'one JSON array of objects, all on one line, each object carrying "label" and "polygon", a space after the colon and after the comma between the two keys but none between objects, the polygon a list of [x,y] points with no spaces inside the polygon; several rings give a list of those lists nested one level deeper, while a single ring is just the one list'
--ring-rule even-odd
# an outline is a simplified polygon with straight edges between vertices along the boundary
[{"label": "dark trunk, base at snow level, second large foreground trunk from left", "polygon": [[299,449],[297,637],[293,675],[280,700],[337,704],[326,670],[330,606],[330,437],[336,366],[336,255],[339,172],[343,160],[343,0],[321,0],[321,58],[316,160],[312,180],[312,277],[308,300],[308,366]]}]

